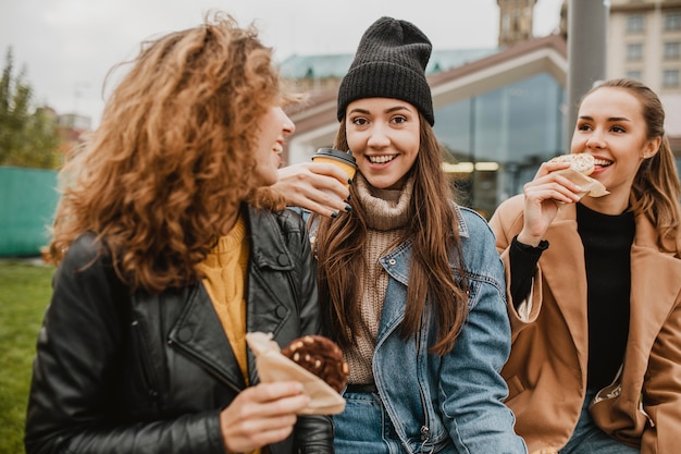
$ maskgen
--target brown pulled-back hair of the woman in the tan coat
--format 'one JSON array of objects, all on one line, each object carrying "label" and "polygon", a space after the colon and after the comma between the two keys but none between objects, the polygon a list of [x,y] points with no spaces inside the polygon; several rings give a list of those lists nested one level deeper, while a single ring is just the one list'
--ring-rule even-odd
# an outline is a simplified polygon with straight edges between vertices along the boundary
[{"label": "brown pulled-back hair of the woman in the tan coat", "polygon": [[681,257],[681,184],[665,133],[663,103],[651,88],[630,78],[607,81],[592,88],[585,96],[603,87],[621,88],[635,96],[641,102],[647,125],[647,138],[661,137],[657,154],[643,161],[634,177],[631,187],[632,210],[636,214],[646,216],[655,225],[657,244],[661,250]]}]

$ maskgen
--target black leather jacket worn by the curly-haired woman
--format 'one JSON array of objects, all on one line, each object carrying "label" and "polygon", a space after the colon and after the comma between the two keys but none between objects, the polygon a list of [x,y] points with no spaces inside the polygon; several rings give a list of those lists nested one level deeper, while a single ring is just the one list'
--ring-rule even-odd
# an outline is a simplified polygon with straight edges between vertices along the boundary
[{"label": "black leather jacket worn by the curly-haired woman", "polygon": [[[321,329],[304,221],[244,210],[248,331],[284,346]],[[35,453],[224,454],[220,410],[246,384],[202,286],[129,296],[86,234],[70,247],[37,346],[25,446]],[[253,356],[248,373],[258,382]],[[333,453],[330,417],[299,417],[273,454]]]}]

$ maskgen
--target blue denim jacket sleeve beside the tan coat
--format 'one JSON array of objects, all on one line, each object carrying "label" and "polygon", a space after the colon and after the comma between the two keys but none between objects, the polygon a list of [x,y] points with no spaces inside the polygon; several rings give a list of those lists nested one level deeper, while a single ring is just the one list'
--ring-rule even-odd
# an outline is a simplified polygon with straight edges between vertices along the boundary
[{"label": "blue denim jacket sleeve beside the tan coat", "polygon": [[513,414],[504,404],[508,389],[500,376],[510,354],[504,268],[490,229],[476,231],[484,234],[470,238],[483,260],[475,267],[485,269],[486,278],[469,277],[469,314],[453,351],[442,359],[442,409],[451,421],[449,434],[458,452],[522,454],[527,447],[513,431]]}]

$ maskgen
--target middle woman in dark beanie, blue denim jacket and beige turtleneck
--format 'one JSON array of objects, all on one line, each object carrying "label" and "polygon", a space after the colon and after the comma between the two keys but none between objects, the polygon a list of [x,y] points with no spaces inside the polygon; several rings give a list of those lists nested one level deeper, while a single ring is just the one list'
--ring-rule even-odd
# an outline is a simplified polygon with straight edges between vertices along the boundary
[{"label": "middle woman in dark beanie, blue denim jacket and beige turtleneck", "polygon": [[[320,208],[309,224],[322,310],[350,366],[334,445],[525,453],[499,375],[510,351],[504,267],[485,220],[453,201],[432,130],[430,54],[413,24],[382,17],[338,90],[334,148],[357,161],[352,206]],[[278,185],[289,203],[304,194],[294,180]]]}]

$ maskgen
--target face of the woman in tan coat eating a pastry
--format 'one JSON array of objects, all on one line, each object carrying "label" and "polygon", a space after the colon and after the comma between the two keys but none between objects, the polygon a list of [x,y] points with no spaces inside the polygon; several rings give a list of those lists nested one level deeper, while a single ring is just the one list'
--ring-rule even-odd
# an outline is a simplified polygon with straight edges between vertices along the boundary
[{"label": "face of the woman in tan coat eating a pastry", "polygon": [[647,131],[641,101],[627,89],[598,88],[584,98],[570,148],[595,158],[591,177],[610,192],[598,201],[584,200],[586,205],[609,204],[614,212],[627,208],[641,163],[659,148],[659,137],[648,139]]}]

